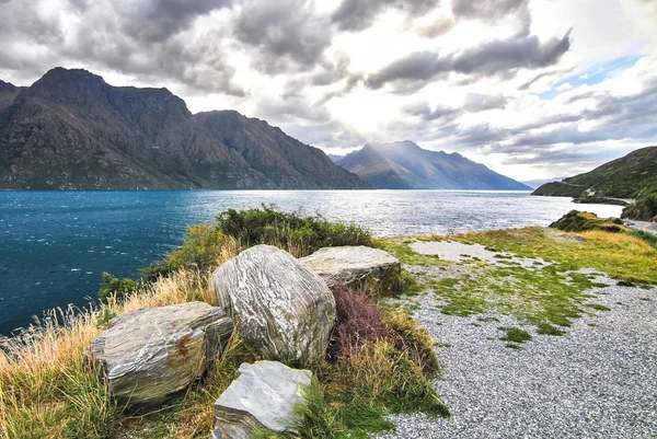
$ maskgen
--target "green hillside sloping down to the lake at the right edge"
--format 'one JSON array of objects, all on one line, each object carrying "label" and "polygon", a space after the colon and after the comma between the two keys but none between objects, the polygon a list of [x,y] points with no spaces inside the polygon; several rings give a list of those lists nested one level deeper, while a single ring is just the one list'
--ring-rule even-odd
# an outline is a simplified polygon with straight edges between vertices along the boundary
[{"label": "green hillside sloping down to the lake at the right edge", "polygon": [[657,147],[638,149],[595,170],[548,183],[532,195],[587,198],[636,198],[657,192]]}]

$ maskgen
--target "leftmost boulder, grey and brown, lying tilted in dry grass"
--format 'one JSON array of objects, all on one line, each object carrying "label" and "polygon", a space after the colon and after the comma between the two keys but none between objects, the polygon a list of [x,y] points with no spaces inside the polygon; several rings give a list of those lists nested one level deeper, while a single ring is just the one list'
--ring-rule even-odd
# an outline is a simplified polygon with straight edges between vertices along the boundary
[{"label": "leftmost boulder, grey and brown, lying tilted in dry grass", "polygon": [[159,403],[206,370],[232,328],[221,309],[203,302],[145,309],[112,319],[90,354],[119,401]]}]

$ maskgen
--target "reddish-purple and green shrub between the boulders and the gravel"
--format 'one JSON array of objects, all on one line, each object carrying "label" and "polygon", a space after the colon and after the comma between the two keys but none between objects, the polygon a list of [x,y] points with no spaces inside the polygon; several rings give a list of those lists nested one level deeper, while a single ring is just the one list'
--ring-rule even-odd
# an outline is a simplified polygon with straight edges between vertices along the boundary
[{"label": "reddish-purple and green shrub between the boulders and the gravel", "polygon": [[[334,296],[337,320],[331,363],[316,372],[338,425],[351,437],[365,438],[359,434],[368,428],[385,428],[387,413],[448,416],[429,381],[439,366],[428,333],[404,312],[381,308],[364,291],[339,286]],[[366,428],[361,423],[371,425]]]}]

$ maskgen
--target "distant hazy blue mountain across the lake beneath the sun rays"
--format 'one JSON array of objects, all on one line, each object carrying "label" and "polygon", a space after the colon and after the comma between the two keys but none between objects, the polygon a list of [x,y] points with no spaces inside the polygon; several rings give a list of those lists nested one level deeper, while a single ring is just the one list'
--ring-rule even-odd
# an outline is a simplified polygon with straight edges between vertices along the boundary
[{"label": "distant hazy blue mountain across the lake beneath the sun rays", "polygon": [[377,188],[530,189],[456,152],[428,151],[412,141],[367,143],[338,164]]}]

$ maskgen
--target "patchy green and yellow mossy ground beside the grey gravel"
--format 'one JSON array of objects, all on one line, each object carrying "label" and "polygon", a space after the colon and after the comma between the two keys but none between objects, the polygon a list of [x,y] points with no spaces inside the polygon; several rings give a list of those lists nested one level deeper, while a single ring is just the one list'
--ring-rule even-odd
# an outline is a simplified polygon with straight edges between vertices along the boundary
[{"label": "patchy green and yellow mossy ground beside the grey gravel", "polygon": [[[429,266],[415,270],[414,290],[433,291],[441,313],[510,315],[535,326],[537,333],[543,335],[564,335],[574,319],[609,310],[591,303],[598,288],[609,286],[597,281],[599,275],[607,275],[619,285],[657,284],[654,241],[631,232],[565,233],[523,228],[416,239],[482,244],[497,253],[495,263],[472,258],[447,262],[414,253],[413,241],[407,238],[379,242],[406,264]],[[521,258],[537,261],[519,264]],[[431,272],[431,266],[442,268]],[[446,273],[453,276],[446,277]]]}]

